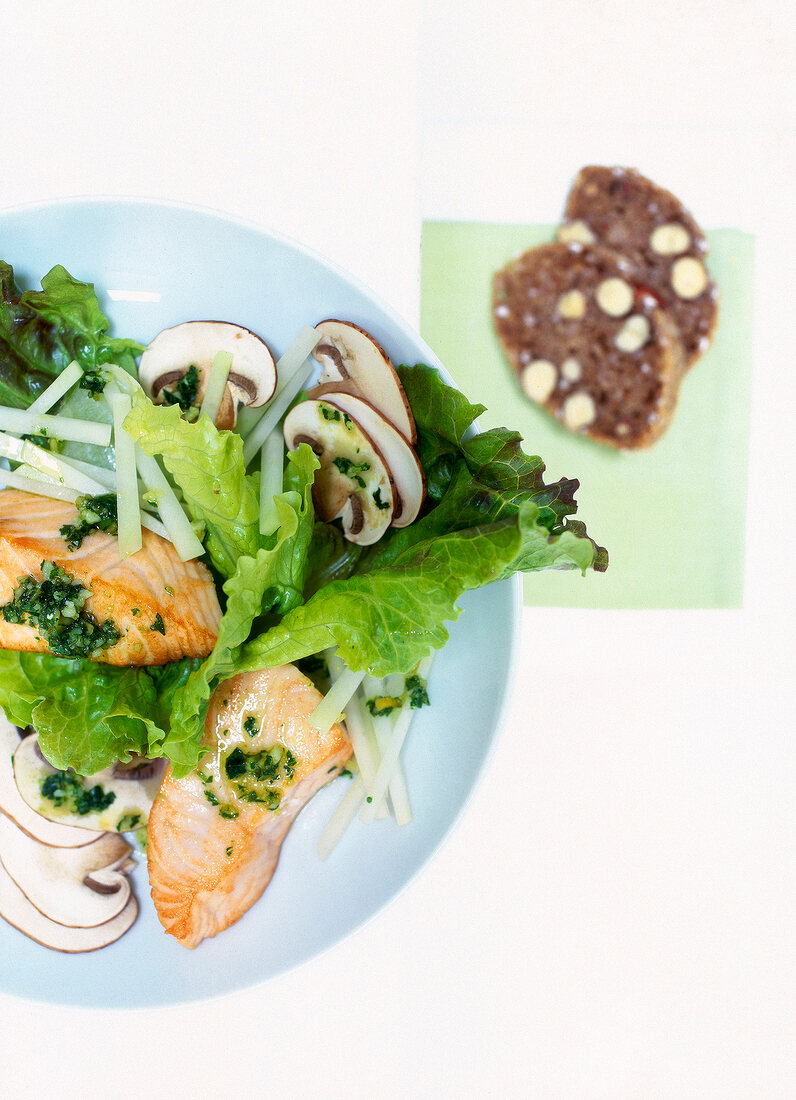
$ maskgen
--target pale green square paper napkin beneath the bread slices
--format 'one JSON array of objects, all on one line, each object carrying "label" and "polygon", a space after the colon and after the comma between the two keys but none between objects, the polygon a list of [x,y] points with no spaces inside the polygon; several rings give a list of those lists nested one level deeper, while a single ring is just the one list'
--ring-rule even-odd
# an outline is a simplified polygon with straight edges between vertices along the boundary
[{"label": "pale green square paper napkin beneath the bread slices", "polygon": [[608,548],[606,573],[537,573],[526,603],[568,607],[740,607],[752,370],[753,238],[708,233],[721,292],[709,352],[688,372],[674,420],[650,450],[623,454],[574,436],[519,389],[491,323],[491,276],[552,226],[423,224],[421,331],[484,427],[505,425],[550,480],[577,477],[578,518]]}]

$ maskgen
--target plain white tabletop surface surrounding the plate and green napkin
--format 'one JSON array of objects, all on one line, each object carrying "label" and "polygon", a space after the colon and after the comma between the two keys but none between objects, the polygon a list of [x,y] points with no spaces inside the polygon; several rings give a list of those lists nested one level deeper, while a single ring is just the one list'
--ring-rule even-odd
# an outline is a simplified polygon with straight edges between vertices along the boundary
[{"label": "plain white tabletop surface surrounding the plate and green napkin", "polygon": [[582,164],[637,164],[707,228],[756,234],[758,323],[745,608],[527,612],[491,768],[386,912],[219,1001],[0,996],[0,1094],[796,1096],[788,14],[16,12],[3,205],[209,205],[320,250],[416,320],[421,211],[552,221]]}]

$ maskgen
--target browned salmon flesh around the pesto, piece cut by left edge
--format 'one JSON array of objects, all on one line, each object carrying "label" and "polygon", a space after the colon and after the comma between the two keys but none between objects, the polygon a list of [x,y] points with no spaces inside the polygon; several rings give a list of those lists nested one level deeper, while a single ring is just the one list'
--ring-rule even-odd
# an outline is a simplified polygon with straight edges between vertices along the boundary
[{"label": "browned salmon flesh around the pesto, piece cut by left edge", "polygon": [[[115,536],[101,531],[68,550],[60,528],[76,522],[76,515],[68,502],[0,490],[0,607],[11,602],[21,579],[41,581],[42,563],[53,562],[90,592],[84,610],[99,624],[111,619],[121,632],[95,660],[132,666],[207,657],[221,618],[209,570],[180,561],[170,542],[147,530],[142,549],[124,560]],[[2,614],[0,648],[49,651],[35,626],[7,623]]]}]

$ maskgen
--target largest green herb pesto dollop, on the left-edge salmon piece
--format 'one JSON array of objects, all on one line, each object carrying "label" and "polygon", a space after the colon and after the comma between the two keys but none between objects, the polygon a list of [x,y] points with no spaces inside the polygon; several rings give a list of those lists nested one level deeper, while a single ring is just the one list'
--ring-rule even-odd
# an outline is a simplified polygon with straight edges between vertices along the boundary
[{"label": "largest green herb pesto dollop, on the left-edge salmon piece", "polygon": [[96,657],[121,638],[112,619],[98,623],[84,610],[90,592],[55,562],[42,562],[42,580],[20,579],[11,602],[0,606],[7,623],[36,627],[58,657]]}]

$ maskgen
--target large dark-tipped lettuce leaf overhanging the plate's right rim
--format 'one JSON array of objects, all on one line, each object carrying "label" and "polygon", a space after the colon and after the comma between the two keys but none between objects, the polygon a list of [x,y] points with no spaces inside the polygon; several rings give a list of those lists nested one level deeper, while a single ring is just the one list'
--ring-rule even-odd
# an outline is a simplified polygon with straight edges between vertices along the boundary
[{"label": "large dark-tipped lettuce leaf overhanging the plate's right rim", "polygon": [[524,454],[517,432],[475,432],[483,407],[431,367],[402,366],[400,376],[429,485],[424,514],[362,557],[338,548],[336,560],[321,558],[334,579],[244,646],[237,671],[336,646],[352,669],[406,673],[444,646],[464,592],[516,572],[606,568],[606,551],[570,518],[576,481],[546,484],[544,463]]}]

